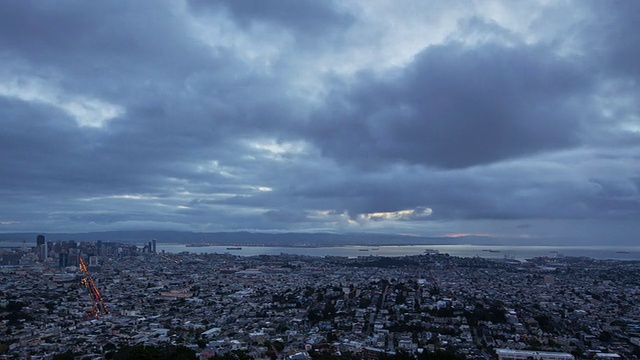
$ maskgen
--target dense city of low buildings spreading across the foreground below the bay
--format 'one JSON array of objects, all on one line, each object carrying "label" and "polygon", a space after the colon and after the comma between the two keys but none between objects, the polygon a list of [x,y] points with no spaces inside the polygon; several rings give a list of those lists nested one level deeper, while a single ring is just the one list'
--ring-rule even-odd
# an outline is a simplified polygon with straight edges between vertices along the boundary
[{"label": "dense city of low buildings spreading across the foreground below the bay", "polygon": [[[640,355],[640,262],[158,254],[103,242],[51,244],[41,257],[39,241],[2,254],[0,359],[103,359],[166,343],[202,359]],[[106,315],[91,311],[79,258]]]}]

